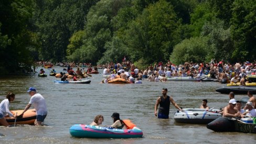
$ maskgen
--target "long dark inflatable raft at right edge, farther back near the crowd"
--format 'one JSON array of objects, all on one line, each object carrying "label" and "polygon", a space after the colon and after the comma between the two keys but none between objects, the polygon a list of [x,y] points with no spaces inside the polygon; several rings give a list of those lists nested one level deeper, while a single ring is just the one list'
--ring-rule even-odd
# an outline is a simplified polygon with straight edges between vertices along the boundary
[{"label": "long dark inflatable raft at right edge, farther back near the crowd", "polygon": [[235,94],[247,94],[248,91],[252,91],[253,94],[256,94],[256,87],[243,87],[243,86],[234,86],[234,87],[222,87],[216,89],[217,92],[227,93],[234,92]]}]

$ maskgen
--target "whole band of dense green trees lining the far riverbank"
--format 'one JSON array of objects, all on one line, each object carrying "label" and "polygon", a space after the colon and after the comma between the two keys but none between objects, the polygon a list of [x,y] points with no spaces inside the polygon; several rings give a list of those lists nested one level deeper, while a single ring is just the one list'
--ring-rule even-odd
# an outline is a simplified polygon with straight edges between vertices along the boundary
[{"label": "whole band of dense green trees lining the far riverbank", "polygon": [[254,61],[254,0],[3,0],[0,70],[35,61]]}]

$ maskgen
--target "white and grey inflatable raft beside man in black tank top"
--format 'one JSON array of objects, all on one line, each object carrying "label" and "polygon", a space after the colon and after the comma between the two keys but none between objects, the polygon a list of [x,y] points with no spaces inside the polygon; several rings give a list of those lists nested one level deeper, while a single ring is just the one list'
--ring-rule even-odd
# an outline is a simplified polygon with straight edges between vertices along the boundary
[{"label": "white and grey inflatable raft beside man in black tank top", "polygon": [[183,109],[174,114],[174,120],[178,123],[208,124],[222,115],[217,109]]}]

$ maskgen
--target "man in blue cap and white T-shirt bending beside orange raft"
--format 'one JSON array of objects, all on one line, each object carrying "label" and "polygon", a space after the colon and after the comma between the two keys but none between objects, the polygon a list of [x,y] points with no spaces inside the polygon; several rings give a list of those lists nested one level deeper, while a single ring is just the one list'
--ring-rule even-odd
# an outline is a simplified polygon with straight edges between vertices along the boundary
[{"label": "man in blue cap and white T-shirt bending beside orange raft", "polygon": [[19,116],[23,116],[23,114],[29,109],[31,104],[33,104],[33,106],[36,109],[36,114],[37,114],[35,125],[41,126],[42,123],[44,122],[44,119],[46,118],[46,115],[47,115],[46,101],[40,93],[37,93],[36,88],[34,88],[34,87],[30,87],[27,92],[29,93],[31,98],[30,98],[29,103],[25,107],[23,113],[20,114]]}]

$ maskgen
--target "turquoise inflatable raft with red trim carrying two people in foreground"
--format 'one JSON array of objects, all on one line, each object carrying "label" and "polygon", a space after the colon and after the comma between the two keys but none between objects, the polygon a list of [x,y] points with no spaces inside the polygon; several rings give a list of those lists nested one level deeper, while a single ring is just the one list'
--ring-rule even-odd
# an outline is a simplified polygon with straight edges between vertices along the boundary
[{"label": "turquoise inflatable raft with red trim carrying two people in foreground", "polygon": [[69,133],[71,136],[79,138],[141,138],[143,135],[142,130],[137,127],[133,129],[116,129],[83,124],[71,126]]}]

